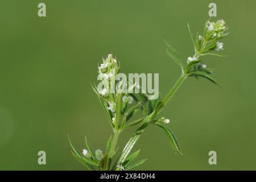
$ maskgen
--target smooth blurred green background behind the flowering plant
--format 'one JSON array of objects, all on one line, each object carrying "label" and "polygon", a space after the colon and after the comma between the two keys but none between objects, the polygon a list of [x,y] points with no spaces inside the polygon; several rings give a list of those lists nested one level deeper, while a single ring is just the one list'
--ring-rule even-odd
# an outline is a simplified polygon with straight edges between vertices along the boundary
[{"label": "smooth blurred green background behind the flowering plant", "polygon": [[[37,15],[39,2],[46,3],[46,18]],[[165,94],[180,69],[163,38],[185,61],[193,53],[187,22],[202,31],[210,2],[2,0],[0,169],[84,169],[69,152],[67,135],[80,149],[85,135],[94,148],[105,148],[111,130],[90,88],[102,56],[114,53],[124,73],[159,73]],[[228,57],[205,57],[222,89],[186,80],[162,113],[184,156],[150,126],[134,148],[142,148],[140,159],[150,159],[137,169],[256,169],[256,2],[214,2],[231,32],[222,52]],[[122,133],[119,152],[135,129]],[[40,150],[45,166],[38,165]],[[208,164],[212,150],[216,166]]]}]

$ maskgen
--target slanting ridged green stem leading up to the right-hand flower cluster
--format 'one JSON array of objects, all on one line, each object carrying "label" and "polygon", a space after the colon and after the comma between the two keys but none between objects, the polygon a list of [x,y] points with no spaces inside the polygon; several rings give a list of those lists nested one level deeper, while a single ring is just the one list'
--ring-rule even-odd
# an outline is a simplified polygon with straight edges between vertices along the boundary
[{"label": "slanting ridged green stem leading up to the right-hand flower cluster", "polygon": [[[164,106],[171,100],[171,98],[174,96],[174,94],[177,92],[177,90],[180,88],[180,86],[183,84],[185,78],[187,78],[187,75],[183,73],[180,78],[176,81],[174,86],[172,86],[171,90],[167,93],[166,97],[163,99]],[[141,137],[141,134],[145,131],[148,124],[153,120],[154,118],[149,117],[144,119],[143,124],[139,127],[139,129],[136,130],[136,132],[133,134],[133,137],[130,138],[130,140],[127,142],[125,148],[123,149],[122,155],[118,159],[117,163],[123,163],[125,162],[125,159],[129,155],[130,151],[134,147],[135,143],[138,141],[139,137]]]}]

